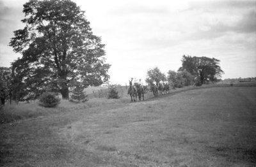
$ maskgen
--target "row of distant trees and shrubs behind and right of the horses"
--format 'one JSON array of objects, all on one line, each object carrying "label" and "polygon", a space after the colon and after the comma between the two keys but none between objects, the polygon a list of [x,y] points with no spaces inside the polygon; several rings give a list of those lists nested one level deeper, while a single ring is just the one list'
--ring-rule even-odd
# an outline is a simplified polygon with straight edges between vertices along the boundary
[{"label": "row of distant trees and shrubs behind and right of the horses", "polygon": [[168,76],[159,68],[147,71],[146,82],[152,85],[153,81],[168,80],[173,87],[184,87],[188,85],[202,85],[208,82],[218,82],[224,73],[220,68],[220,61],[209,57],[191,57],[183,55],[182,66],[179,70],[168,71]]}]

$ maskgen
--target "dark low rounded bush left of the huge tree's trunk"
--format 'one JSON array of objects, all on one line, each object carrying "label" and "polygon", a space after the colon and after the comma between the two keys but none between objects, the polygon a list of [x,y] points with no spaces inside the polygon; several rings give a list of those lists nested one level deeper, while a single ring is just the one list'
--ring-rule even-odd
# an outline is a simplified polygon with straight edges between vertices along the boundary
[{"label": "dark low rounded bush left of the huge tree's trunk", "polygon": [[39,97],[39,105],[44,107],[55,107],[60,104],[60,98],[54,92],[44,92]]}]

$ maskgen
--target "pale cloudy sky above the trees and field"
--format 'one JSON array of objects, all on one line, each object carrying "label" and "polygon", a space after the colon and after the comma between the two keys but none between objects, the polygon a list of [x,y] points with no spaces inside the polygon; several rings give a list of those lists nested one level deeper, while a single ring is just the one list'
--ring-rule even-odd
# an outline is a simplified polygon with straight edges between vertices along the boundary
[{"label": "pale cloudy sky above the trees and field", "polygon": [[[111,83],[125,85],[131,77],[145,83],[156,67],[167,75],[182,66],[182,55],[219,59],[222,79],[256,76],[256,0],[74,2],[106,44]],[[0,66],[21,57],[8,43],[24,27],[24,3],[0,0]]]}]

